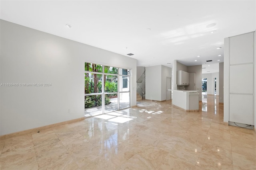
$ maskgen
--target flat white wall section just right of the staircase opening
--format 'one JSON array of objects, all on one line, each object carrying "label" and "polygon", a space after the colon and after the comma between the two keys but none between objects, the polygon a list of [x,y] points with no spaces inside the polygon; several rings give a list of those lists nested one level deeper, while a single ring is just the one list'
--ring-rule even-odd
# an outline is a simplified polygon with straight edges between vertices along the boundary
[{"label": "flat white wall section just right of the staircase opening", "polygon": [[161,65],[146,67],[146,100],[161,101],[161,71]]}]

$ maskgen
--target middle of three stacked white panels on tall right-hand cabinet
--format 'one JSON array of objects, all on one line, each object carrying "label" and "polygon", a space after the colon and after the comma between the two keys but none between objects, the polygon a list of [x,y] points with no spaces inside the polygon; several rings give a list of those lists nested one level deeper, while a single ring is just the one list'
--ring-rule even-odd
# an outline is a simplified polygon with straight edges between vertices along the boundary
[{"label": "middle of three stacked white panels on tall right-hand cabinet", "polygon": [[253,64],[230,66],[230,93],[253,93]]}]

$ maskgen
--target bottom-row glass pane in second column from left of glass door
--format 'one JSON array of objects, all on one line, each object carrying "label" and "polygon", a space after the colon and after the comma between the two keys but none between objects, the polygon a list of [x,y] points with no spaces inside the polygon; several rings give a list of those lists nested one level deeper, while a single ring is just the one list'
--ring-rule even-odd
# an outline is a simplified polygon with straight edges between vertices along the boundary
[{"label": "bottom-row glass pane in second column from left of glass door", "polygon": [[118,98],[116,94],[106,94],[105,95],[105,110],[104,113],[109,113],[111,111],[118,110]]}]

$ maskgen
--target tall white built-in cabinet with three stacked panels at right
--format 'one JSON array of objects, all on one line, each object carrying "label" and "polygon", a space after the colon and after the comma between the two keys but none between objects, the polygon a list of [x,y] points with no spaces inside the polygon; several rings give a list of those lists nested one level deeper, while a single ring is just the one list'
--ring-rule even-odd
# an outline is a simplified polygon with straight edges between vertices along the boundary
[{"label": "tall white built-in cabinet with three stacked panels at right", "polygon": [[224,85],[224,90],[228,90],[228,104],[224,102],[224,107],[228,107],[229,125],[254,125],[254,36],[255,32],[250,32],[224,41],[224,67],[229,75]]}]

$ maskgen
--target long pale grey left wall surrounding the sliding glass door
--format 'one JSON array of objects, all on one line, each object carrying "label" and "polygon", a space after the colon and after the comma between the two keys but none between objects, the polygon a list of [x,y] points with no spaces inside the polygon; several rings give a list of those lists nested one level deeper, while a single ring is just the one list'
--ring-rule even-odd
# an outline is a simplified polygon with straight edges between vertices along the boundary
[{"label": "long pale grey left wall surrounding the sliding glass door", "polygon": [[84,117],[84,62],[132,69],[130,104],[136,106],[136,59],[0,22],[1,83],[51,83],[1,86],[0,135]]}]

